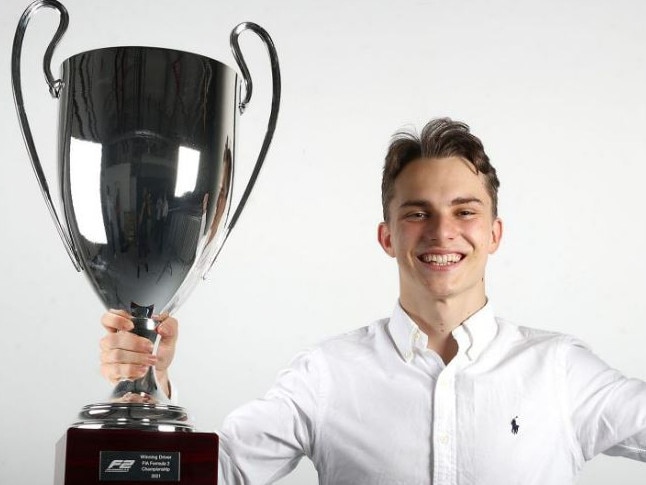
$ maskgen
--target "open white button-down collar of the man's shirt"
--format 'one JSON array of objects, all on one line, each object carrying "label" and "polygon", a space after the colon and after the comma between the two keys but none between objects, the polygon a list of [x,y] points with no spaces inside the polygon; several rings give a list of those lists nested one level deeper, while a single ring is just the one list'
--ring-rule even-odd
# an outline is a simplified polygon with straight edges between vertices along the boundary
[{"label": "open white button-down collar of the man's shirt", "polygon": [[[388,330],[399,355],[406,362],[413,360],[416,350],[423,351],[428,346],[428,336],[419,329],[399,302],[388,322]],[[464,354],[470,361],[476,360],[494,339],[497,330],[493,305],[487,302],[453,330],[453,337],[458,342],[458,355]]]}]

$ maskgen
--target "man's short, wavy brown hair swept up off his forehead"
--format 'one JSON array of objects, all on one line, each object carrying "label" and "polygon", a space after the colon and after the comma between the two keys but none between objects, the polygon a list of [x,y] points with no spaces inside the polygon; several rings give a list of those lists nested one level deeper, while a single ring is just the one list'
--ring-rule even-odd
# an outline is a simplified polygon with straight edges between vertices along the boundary
[{"label": "man's short, wavy brown hair swept up off his forehead", "polygon": [[470,162],[477,173],[484,175],[486,188],[492,202],[493,216],[498,215],[498,187],[496,169],[489,163],[480,139],[471,134],[469,126],[450,118],[429,121],[417,135],[399,131],[393,136],[381,181],[381,203],[384,221],[388,221],[388,206],[394,197],[395,179],[410,162],[420,158],[460,157]]}]

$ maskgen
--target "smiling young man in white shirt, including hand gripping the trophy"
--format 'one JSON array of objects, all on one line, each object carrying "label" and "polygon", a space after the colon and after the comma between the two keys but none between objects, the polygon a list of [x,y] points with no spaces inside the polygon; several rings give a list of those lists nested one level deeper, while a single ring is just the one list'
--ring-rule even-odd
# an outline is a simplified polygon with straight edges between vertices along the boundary
[{"label": "smiling young man in white shirt, including hand gripping the trophy", "polygon": [[[379,243],[395,258],[390,318],[297,355],[221,431],[221,483],[271,483],[303,456],[319,481],[572,484],[598,453],[646,461],[646,383],[577,340],[494,316],[485,267],[502,237],[499,182],[478,138],[449,119],[398,134],[384,167]],[[167,386],[177,321],[158,359],[106,314],[104,375],[156,365]]]}]

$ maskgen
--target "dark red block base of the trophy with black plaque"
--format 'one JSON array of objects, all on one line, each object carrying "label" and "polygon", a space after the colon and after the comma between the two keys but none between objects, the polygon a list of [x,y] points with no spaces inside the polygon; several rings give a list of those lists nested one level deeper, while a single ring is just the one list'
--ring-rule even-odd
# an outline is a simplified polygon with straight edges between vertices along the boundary
[{"label": "dark red block base of the trophy with black plaque", "polygon": [[217,485],[218,435],[70,428],[56,445],[55,485]]}]

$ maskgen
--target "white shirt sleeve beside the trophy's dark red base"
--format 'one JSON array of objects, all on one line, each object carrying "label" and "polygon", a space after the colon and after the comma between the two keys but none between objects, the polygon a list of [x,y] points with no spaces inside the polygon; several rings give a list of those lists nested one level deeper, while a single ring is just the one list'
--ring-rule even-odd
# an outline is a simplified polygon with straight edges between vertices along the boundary
[{"label": "white shirt sleeve beside the trophy's dark red base", "polygon": [[221,485],[272,483],[312,456],[320,412],[318,351],[297,355],[262,398],[231,413],[220,436]]}]

